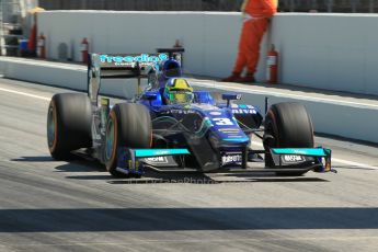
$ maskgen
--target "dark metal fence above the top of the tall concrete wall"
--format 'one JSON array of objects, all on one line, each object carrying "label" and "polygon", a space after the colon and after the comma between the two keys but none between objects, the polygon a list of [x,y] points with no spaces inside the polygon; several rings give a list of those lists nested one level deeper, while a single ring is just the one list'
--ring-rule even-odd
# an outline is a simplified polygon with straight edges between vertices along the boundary
[{"label": "dark metal fence above the top of the tall concrete wall", "polygon": [[[242,0],[39,0],[47,10],[239,11]],[[378,12],[378,0],[279,0],[282,12]]]}]

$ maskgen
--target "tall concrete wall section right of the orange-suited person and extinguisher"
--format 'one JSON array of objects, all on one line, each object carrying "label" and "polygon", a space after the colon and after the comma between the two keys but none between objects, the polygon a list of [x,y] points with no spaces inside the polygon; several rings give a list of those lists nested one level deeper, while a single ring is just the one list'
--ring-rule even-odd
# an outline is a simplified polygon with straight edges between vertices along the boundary
[{"label": "tall concrete wall section right of the orange-suited person and extinguisher", "polygon": [[280,14],[272,41],[284,83],[378,94],[377,14]]}]

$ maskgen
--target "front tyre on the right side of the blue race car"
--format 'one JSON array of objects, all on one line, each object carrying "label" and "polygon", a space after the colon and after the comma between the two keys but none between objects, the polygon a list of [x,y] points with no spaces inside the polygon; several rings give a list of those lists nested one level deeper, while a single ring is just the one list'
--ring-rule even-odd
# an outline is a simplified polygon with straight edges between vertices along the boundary
[{"label": "front tyre on the right side of the blue race car", "polygon": [[[273,168],[271,148],[313,148],[313,127],[306,107],[299,103],[277,103],[265,117],[265,167]],[[302,175],[306,172],[277,172]]]}]

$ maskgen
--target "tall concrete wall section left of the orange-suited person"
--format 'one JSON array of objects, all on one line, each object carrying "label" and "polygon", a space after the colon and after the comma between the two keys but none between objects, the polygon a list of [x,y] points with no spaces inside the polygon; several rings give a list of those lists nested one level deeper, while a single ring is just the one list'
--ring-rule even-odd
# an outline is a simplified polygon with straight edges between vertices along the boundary
[{"label": "tall concrete wall section left of the orange-suited person", "polygon": [[[225,77],[237,54],[240,13],[213,12],[106,12],[50,11],[38,15],[39,31],[47,37],[47,54],[58,58],[59,43],[72,45],[80,60],[80,43],[91,42],[96,53],[154,53],[180,39],[185,47],[187,73]],[[263,71],[260,71],[262,79]]]}]

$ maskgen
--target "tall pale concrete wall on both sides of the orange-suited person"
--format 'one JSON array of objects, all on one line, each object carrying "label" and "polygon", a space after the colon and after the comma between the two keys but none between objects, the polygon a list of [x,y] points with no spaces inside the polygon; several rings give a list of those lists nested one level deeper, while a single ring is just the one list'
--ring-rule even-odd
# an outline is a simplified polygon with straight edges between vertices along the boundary
[{"label": "tall pale concrete wall on both sides of the orange-suited person", "polygon": [[[284,83],[378,94],[378,15],[277,14],[262,44],[257,80],[265,78],[266,45],[280,53],[279,80]],[[83,37],[91,50],[148,53],[181,39],[190,73],[225,77],[234,61],[240,13],[220,12],[104,12],[51,11],[39,14],[39,31],[47,35],[47,54],[58,57],[59,43],[72,46],[80,60]]]}]

